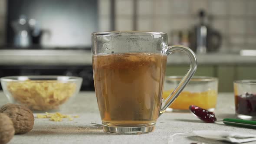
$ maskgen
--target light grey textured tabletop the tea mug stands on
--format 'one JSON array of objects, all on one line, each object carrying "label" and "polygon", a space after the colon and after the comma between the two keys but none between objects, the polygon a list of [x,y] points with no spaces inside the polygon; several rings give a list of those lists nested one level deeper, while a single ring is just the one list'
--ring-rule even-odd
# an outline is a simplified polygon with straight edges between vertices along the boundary
[{"label": "light grey textured tabletop the tea mug stands on", "polygon": [[[0,105],[7,102],[3,92],[0,92]],[[234,118],[234,111],[233,93],[220,93],[215,111],[217,119]],[[9,144],[223,144],[221,141],[197,137],[192,131],[223,130],[256,134],[253,129],[231,127],[222,122],[204,123],[191,113],[184,112],[165,112],[158,119],[156,129],[149,134],[107,134],[97,125],[101,124],[101,119],[94,92],[80,92],[60,112],[79,115],[79,118],[61,122],[35,118],[33,130],[27,134],[15,135]],[[246,144],[255,144],[255,141]]]}]

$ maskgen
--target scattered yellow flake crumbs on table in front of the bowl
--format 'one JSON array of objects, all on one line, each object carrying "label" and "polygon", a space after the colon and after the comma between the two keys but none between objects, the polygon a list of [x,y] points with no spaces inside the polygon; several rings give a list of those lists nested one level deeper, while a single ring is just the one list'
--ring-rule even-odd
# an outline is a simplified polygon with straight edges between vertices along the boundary
[{"label": "scattered yellow flake crumbs on table in front of the bowl", "polygon": [[79,118],[78,115],[75,115],[75,116],[63,115],[59,112],[56,112],[53,114],[46,112],[46,115],[37,114],[36,117],[37,118],[49,118],[50,121],[62,121],[62,118],[68,118],[69,121],[73,121],[73,118]]}]

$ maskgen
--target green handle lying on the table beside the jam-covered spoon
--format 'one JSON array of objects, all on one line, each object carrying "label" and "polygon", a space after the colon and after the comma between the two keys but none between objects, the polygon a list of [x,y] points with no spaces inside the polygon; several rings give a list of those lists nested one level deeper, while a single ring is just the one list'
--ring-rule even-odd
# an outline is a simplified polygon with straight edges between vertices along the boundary
[{"label": "green handle lying on the table beside the jam-covered spoon", "polygon": [[224,118],[223,123],[228,124],[228,125],[245,127],[245,128],[256,128],[256,121],[233,119],[233,118]]}]

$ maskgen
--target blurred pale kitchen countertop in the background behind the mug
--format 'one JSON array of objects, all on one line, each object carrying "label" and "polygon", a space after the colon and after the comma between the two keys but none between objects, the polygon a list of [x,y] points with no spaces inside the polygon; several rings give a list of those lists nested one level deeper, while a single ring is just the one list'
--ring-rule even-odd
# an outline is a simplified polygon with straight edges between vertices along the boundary
[{"label": "blurred pale kitchen countertop in the background behind the mug", "polygon": [[[198,65],[256,64],[256,56],[240,56],[238,53],[209,53],[197,55]],[[167,65],[188,64],[186,55],[174,53]],[[20,49],[0,50],[0,65],[92,65],[90,50]]]}]

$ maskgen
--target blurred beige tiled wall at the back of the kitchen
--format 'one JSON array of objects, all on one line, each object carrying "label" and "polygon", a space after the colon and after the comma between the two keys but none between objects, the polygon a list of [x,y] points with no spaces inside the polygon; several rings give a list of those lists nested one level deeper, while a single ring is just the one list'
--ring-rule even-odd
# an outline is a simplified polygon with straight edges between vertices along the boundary
[{"label": "blurred beige tiled wall at the back of the kitchen", "polygon": [[[115,30],[133,30],[134,0],[116,1]],[[211,26],[223,35],[223,49],[247,44],[256,49],[256,0],[137,0],[137,30],[189,29],[198,10],[213,16]],[[6,0],[0,0],[0,44],[4,39]],[[110,0],[98,0],[99,31],[111,30]],[[3,18],[4,17],[4,18]],[[170,40],[169,40],[170,41]],[[244,46],[243,46],[244,48]]]}]

